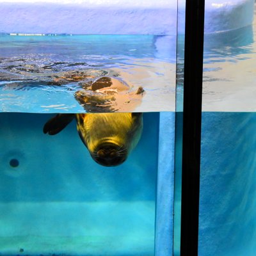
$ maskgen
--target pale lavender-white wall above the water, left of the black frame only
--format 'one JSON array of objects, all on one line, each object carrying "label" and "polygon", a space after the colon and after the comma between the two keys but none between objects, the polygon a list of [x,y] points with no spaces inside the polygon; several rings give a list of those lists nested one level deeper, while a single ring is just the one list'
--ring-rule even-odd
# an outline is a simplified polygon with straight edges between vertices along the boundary
[{"label": "pale lavender-white wall above the water, left of the black frame only", "polygon": [[0,1],[0,13],[6,33],[175,35],[177,1]]}]

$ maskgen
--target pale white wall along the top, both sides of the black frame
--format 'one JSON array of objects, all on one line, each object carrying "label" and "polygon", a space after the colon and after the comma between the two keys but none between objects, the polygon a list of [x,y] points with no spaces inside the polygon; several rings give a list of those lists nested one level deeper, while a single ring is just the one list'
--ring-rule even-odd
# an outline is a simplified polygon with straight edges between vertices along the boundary
[{"label": "pale white wall along the top, both sides of the black frame", "polygon": [[[206,0],[205,33],[252,24],[254,0]],[[175,35],[177,0],[0,0],[1,33]],[[184,33],[185,1],[179,1]]]}]

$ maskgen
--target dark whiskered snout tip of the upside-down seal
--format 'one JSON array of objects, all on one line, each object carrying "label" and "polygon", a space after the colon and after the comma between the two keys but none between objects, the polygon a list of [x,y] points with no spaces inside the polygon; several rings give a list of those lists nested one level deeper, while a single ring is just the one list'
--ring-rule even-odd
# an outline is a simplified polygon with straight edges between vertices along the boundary
[{"label": "dark whiskered snout tip of the upside-down seal", "polygon": [[115,143],[100,143],[92,157],[103,166],[116,166],[124,163],[127,158],[127,149]]}]

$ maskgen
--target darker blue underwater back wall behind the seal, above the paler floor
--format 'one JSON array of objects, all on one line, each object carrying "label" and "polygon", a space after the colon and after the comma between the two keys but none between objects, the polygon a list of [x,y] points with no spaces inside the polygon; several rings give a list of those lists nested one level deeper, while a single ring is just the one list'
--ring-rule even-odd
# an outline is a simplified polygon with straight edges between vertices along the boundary
[{"label": "darker blue underwater back wall behind the seal, above the paler floor", "polygon": [[[140,144],[124,164],[113,168],[92,160],[79,138],[75,122],[59,134],[49,136],[42,129],[52,115],[0,115],[0,163],[4,179],[0,201],[154,200],[157,113],[144,115],[145,129]],[[145,161],[145,154],[150,161]],[[19,160],[17,168],[10,166],[11,159]],[[132,193],[128,193],[130,187],[134,188]]]}]

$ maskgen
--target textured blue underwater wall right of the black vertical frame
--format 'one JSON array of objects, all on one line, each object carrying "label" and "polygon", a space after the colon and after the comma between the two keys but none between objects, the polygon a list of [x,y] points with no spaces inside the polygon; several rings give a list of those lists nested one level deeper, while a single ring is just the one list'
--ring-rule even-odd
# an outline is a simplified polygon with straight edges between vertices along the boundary
[{"label": "textured blue underwater wall right of the black vertical frame", "polygon": [[256,252],[256,113],[203,113],[200,256]]}]

